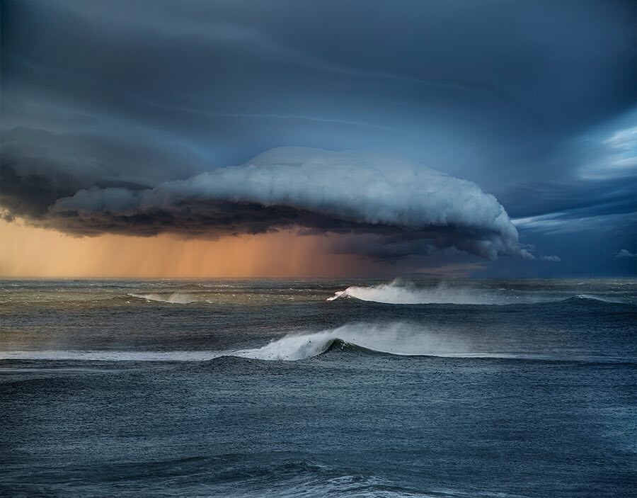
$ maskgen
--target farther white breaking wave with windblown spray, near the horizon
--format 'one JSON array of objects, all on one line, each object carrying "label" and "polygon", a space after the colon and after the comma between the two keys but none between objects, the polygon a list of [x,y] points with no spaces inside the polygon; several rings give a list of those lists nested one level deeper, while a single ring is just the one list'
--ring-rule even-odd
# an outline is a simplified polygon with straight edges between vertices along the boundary
[{"label": "farther white breaking wave with windblown spray, near the horizon", "polygon": [[434,288],[418,288],[398,279],[372,287],[351,286],[335,293],[328,301],[340,298],[355,298],[362,301],[383,302],[390,305],[506,305],[520,302],[514,296],[499,295],[492,290],[454,287],[441,282]]}]

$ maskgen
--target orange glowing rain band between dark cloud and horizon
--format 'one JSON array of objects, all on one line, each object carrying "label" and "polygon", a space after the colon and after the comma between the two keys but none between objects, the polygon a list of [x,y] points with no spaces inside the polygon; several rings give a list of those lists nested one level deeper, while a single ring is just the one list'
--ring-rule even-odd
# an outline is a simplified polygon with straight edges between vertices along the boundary
[{"label": "orange glowing rain band between dark cloud and horizon", "polygon": [[0,221],[4,277],[275,277],[365,273],[356,256],[330,254],[328,236],[292,232],[186,239],[163,234],[73,237]]}]

